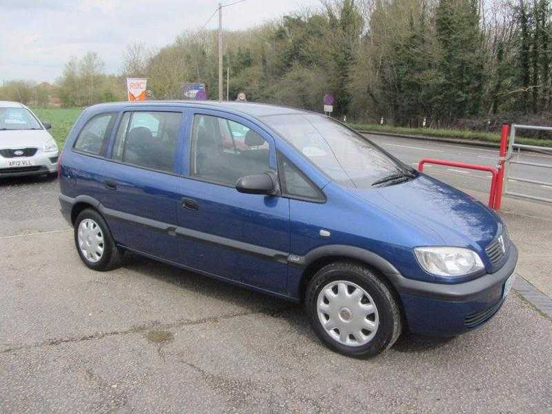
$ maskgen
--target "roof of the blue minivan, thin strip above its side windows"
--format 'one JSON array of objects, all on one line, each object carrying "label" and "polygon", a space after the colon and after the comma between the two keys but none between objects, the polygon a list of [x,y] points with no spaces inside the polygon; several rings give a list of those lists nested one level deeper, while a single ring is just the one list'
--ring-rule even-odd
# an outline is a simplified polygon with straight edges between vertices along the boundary
[{"label": "roof of the blue minivan, thin strip above its side windows", "polygon": [[[121,110],[128,106],[140,108],[141,106],[181,106],[183,108],[205,108],[212,110],[228,110],[230,112],[249,115],[250,117],[266,117],[268,115],[313,114],[307,110],[278,106],[270,103],[234,102],[234,101],[135,101],[101,103],[96,105],[97,110]],[[103,108],[101,108],[103,107]]]}]

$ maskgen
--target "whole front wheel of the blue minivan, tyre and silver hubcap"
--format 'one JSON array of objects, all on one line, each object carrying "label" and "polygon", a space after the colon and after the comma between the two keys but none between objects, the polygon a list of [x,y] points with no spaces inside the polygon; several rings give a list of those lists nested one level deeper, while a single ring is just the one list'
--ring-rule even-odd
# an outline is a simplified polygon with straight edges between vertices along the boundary
[{"label": "whole front wheel of the blue minivan, tyre and silver hubcap", "polygon": [[402,330],[391,290],[373,270],[353,262],[320,269],[308,285],[305,306],[322,342],[351,357],[381,353]]}]

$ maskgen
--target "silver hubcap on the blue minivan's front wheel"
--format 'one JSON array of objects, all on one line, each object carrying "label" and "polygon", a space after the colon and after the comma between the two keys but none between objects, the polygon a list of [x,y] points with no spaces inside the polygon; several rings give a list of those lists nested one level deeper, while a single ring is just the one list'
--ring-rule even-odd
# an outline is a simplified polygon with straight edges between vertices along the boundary
[{"label": "silver hubcap on the blue minivan's front wheel", "polygon": [[330,282],[318,295],[320,323],[333,339],[347,346],[370,342],[380,325],[377,308],[370,295],[353,282]]}]

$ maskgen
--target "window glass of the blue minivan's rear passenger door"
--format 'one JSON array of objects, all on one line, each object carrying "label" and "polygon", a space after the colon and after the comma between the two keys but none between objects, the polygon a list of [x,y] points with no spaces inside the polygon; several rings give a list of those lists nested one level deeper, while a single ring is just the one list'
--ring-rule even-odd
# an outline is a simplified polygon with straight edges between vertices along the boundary
[{"label": "window glass of the blue minivan's rear passenger door", "polygon": [[180,112],[125,112],[112,159],[173,172],[181,119]]}]

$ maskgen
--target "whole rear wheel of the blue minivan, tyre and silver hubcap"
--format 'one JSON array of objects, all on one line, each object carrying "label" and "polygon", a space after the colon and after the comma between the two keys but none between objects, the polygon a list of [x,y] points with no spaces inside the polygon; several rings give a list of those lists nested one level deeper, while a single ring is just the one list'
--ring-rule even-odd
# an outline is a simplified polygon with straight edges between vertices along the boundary
[{"label": "whole rear wheel of the blue minivan, tyre and silver hubcap", "polygon": [[121,263],[122,251],[113,240],[106,221],[91,208],[81,211],[75,220],[75,246],[86,266],[111,270]]}]

